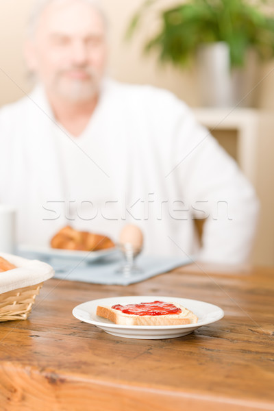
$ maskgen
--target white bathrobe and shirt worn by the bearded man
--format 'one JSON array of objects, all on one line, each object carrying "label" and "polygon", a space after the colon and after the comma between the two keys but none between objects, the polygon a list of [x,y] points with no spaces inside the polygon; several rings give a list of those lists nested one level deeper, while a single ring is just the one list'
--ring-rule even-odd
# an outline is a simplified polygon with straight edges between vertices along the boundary
[{"label": "white bathrobe and shirt worn by the bearded man", "polygon": [[[16,207],[18,243],[48,245],[64,225],[118,240],[134,223],[145,253],[230,263],[249,257],[253,188],[170,92],[105,80],[75,138],[38,86],[0,110],[0,150],[0,201]],[[193,219],[204,217],[199,249]]]}]

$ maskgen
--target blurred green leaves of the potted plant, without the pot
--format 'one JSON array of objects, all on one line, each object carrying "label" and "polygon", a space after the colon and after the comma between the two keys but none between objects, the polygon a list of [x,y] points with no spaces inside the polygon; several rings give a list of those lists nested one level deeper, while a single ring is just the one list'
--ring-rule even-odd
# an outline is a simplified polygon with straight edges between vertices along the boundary
[{"label": "blurred green leaves of the potted plant, without the pot", "polygon": [[[129,36],[140,29],[142,20],[157,0],[141,5],[129,25]],[[157,50],[161,62],[180,66],[190,61],[202,42],[225,41],[230,48],[232,66],[240,66],[249,47],[261,58],[274,56],[274,18],[258,5],[246,0],[188,0],[160,14],[160,30],[149,38],[145,51]]]}]

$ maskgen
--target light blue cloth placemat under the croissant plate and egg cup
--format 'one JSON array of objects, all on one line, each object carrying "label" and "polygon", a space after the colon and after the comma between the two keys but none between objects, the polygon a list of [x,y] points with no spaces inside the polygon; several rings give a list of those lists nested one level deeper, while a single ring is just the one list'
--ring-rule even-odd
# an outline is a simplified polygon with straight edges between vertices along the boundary
[{"label": "light blue cloth placemat under the croissant plate and egg cup", "polygon": [[142,272],[132,277],[123,277],[116,273],[123,264],[121,258],[99,260],[92,264],[73,264],[64,260],[52,260],[50,263],[55,269],[55,278],[58,279],[127,286],[192,262],[192,258],[184,257],[139,256],[136,263]]}]

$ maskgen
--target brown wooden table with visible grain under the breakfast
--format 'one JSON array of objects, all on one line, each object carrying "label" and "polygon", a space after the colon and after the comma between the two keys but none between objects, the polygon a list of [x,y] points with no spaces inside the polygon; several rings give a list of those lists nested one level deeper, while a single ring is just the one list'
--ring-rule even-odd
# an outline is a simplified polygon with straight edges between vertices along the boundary
[{"label": "brown wooden table with visible grain under the breakfast", "polygon": [[[27,321],[0,324],[1,411],[274,410],[274,269],[177,269],[132,286],[49,280]],[[84,301],[169,295],[225,317],[182,338],[131,340],[77,321]]]}]

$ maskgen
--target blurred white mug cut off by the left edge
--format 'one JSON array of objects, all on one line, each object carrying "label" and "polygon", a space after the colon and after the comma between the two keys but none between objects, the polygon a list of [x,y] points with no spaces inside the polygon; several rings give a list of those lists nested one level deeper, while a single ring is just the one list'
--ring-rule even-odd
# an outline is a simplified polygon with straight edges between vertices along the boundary
[{"label": "blurred white mug cut off by the left edge", "polygon": [[14,253],[15,219],[14,208],[0,204],[0,252]]}]

